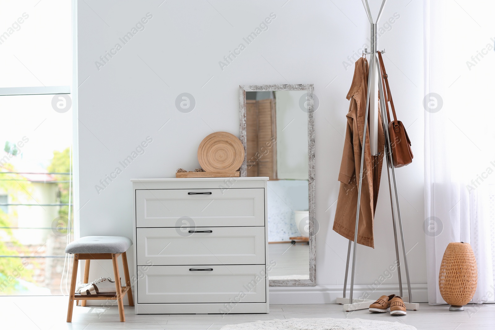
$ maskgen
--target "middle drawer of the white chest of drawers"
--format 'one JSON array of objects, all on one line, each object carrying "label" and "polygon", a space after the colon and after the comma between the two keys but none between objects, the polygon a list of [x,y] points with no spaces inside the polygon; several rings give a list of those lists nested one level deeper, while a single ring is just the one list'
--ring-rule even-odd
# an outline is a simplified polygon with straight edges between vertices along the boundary
[{"label": "middle drawer of the white chest of drawers", "polygon": [[137,228],[138,266],[265,263],[265,227]]}]

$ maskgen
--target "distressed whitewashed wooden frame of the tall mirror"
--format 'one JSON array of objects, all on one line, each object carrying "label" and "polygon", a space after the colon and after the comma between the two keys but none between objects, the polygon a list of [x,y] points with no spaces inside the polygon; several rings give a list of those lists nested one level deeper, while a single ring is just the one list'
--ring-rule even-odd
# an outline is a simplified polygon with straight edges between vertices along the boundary
[{"label": "distressed whitewashed wooden frame of the tall mirror", "polygon": [[309,209],[309,279],[269,280],[270,286],[316,285],[316,234],[315,233],[315,168],[314,168],[314,86],[300,85],[241,85],[239,86],[240,102],[240,138],[244,145],[244,162],[241,166],[241,177],[247,176],[247,137],[246,137],[246,92],[270,91],[306,91],[308,114],[308,209]]}]

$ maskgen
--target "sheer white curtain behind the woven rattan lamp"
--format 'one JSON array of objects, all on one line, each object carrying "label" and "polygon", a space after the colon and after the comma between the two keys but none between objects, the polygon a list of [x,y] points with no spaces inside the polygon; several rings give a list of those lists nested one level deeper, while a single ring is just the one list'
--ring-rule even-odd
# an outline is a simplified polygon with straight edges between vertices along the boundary
[{"label": "sheer white curtain behind the woven rattan lamp", "polygon": [[424,0],[428,300],[449,242],[478,265],[473,302],[494,301],[495,1]]}]

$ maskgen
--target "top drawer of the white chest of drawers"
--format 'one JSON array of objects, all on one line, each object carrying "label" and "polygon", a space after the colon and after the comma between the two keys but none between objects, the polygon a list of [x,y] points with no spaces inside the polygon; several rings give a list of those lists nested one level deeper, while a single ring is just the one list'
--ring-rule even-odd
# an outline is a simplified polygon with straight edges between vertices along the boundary
[{"label": "top drawer of the white chest of drawers", "polygon": [[136,227],[264,226],[264,188],[136,189]]}]

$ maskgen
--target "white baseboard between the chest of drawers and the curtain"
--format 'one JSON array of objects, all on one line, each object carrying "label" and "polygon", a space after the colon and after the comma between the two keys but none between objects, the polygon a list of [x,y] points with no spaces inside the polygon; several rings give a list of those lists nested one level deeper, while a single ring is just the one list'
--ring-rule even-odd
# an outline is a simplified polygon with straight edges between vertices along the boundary
[{"label": "white baseboard between the chest of drawers and the curtain", "polygon": [[[335,304],[337,298],[342,297],[343,289],[342,285],[270,286],[270,305]],[[373,300],[394,293],[399,294],[398,284],[354,285],[352,297]],[[403,295],[408,295],[406,285],[403,286]],[[411,295],[413,302],[428,302],[427,284],[411,284]]]}]

